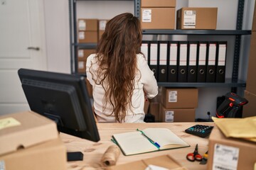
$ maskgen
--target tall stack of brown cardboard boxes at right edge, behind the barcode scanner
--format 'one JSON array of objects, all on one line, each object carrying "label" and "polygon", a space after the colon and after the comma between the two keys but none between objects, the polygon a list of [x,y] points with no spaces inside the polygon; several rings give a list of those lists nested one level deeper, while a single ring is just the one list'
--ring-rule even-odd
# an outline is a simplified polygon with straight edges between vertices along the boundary
[{"label": "tall stack of brown cardboard boxes at right edge, behind the barcode scanner", "polygon": [[[256,8],[256,4],[255,4]],[[242,117],[250,117],[256,115],[256,10],[254,11],[252,21],[252,35],[250,42],[250,57],[247,70],[247,81],[245,89],[245,98],[249,101],[243,106]]]}]

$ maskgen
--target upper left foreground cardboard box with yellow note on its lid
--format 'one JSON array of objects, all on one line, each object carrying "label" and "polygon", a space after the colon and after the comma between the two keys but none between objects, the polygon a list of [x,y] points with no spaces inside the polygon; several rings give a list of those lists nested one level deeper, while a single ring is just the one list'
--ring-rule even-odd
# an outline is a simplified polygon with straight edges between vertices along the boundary
[{"label": "upper left foreground cardboard box with yellow note on its lid", "polygon": [[1,115],[0,121],[0,155],[58,138],[57,125],[32,111]]}]

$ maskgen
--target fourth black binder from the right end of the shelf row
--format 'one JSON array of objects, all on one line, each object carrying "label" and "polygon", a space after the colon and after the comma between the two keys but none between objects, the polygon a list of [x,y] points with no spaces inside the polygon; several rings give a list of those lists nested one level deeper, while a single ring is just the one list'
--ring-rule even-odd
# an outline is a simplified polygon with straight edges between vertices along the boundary
[{"label": "fourth black binder from the right end of the shelf row", "polygon": [[198,42],[188,42],[188,82],[196,82]]}]

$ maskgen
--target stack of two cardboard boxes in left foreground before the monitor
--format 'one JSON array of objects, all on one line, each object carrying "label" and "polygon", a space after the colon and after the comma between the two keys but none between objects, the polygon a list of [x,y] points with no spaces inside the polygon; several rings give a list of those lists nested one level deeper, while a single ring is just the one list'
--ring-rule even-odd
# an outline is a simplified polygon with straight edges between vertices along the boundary
[{"label": "stack of two cardboard boxes in left foreground before the monitor", "polygon": [[56,124],[31,111],[0,116],[0,169],[66,169]]}]

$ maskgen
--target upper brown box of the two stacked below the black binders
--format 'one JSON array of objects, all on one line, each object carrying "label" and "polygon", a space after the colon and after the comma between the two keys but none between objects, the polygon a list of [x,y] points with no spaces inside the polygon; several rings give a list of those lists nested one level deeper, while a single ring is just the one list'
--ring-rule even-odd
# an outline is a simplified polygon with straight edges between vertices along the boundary
[{"label": "upper brown box of the two stacked below the black binders", "polygon": [[197,108],[198,89],[196,88],[169,88],[163,87],[161,103],[165,108]]}]

